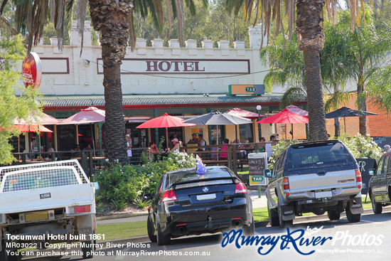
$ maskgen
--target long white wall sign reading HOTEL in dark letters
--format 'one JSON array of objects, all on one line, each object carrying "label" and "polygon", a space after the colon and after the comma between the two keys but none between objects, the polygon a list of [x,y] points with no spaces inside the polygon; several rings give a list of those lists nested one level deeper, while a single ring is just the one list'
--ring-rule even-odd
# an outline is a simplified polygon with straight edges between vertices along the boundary
[{"label": "long white wall sign reading HOTEL in dark letters", "polygon": [[[97,59],[98,74],[103,73],[102,58]],[[247,74],[245,59],[124,59],[121,74]]]}]

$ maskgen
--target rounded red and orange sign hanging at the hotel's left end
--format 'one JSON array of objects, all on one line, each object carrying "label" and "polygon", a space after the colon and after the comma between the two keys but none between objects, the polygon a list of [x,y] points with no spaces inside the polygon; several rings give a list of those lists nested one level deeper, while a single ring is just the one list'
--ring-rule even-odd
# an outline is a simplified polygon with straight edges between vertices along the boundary
[{"label": "rounded red and orange sign hanging at the hotel's left end", "polygon": [[42,67],[41,59],[36,53],[28,53],[22,63],[23,82],[26,87],[38,89],[41,84]]}]

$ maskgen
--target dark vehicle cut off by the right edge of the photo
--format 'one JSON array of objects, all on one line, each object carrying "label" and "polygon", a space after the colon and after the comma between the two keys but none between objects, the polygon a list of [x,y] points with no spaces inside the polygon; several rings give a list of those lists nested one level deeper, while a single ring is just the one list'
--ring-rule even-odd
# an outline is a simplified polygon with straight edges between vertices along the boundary
[{"label": "dark vehicle cut off by the right edge of the photo", "polygon": [[370,169],[372,176],[369,181],[368,193],[372,202],[373,213],[382,213],[382,207],[391,204],[391,165],[390,152],[384,154],[377,165],[376,171]]}]

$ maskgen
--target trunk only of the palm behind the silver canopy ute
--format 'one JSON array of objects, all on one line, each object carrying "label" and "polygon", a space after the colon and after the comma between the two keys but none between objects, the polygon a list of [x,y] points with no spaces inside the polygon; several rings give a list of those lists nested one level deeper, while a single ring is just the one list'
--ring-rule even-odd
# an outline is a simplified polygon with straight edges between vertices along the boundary
[{"label": "trunk only of the palm behind the silver canopy ute", "polygon": [[327,140],[326,117],[322,92],[321,63],[319,50],[324,46],[323,18],[324,0],[296,1],[296,31],[299,48],[306,65],[306,89],[309,106],[309,141]]}]

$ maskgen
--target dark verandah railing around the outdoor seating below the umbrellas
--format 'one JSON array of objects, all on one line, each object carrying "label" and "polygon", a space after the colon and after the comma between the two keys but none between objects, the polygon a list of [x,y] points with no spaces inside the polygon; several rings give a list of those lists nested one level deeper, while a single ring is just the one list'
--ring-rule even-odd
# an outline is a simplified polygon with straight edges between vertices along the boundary
[{"label": "dark verandah railing around the outdoor seating below the umbrellas", "polygon": [[[198,154],[207,166],[224,165],[237,174],[238,168],[248,165],[247,154],[259,150],[259,146],[264,147],[264,143],[246,144],[221,144],[198,147],[182,147],[181,151],[188,154]],[[223,148],[227,148],[226,150]],[[205,150],[204,150],[205,149]],[[132,148],[130,163],[134,165],[143,164],[141,154],[145,153],[149,158],[148,148]],[[15,153],[14,164],[31,164],[45,161],[77,159],[89,178],[95,172],[100,171],[105,166],[105,156],[102,149],[82,150],[82,151],[53,151],[53,152],[28,152]],[[159,160],[159,156],[156,157]]]}]

